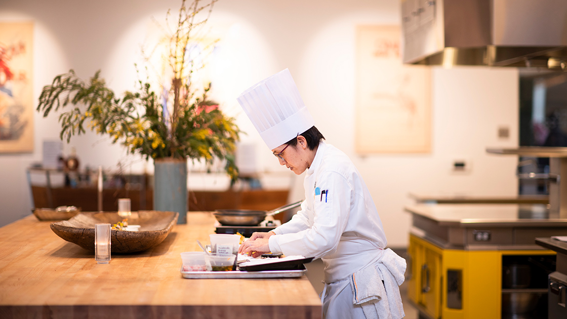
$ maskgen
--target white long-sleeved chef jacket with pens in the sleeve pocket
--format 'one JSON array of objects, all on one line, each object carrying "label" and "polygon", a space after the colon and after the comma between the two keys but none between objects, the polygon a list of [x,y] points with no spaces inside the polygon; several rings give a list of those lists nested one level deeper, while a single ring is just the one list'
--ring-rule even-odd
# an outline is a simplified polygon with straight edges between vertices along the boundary
[{"label": "white long-sleeved chef jacket with pens in the sleeve pocket", "polygon": [[387,243],[382,221],[345,153],[321,141],[303,187],[301,210],[269,238],[272,253],[321,258],[327,283],[382,257]]}]

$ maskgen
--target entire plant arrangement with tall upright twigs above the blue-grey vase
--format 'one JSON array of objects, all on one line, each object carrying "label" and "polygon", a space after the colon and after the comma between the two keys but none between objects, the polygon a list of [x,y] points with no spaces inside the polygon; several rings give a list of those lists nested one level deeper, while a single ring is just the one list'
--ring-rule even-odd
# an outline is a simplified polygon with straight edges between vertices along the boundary
[{"label": "entire plant arrangement with tall upright twigs above the blue-grey vase", "polygon": [[[74,106],[59,116],[60,137],[67,142],[71,136],[85,133],[87,125],[97,133],[111,136],[113,143],[120,142],[130,153],[146,158],[226,160],[225,169],[236,181],[234,152],[240,130],[235,120],[209,99],[210,83],[198,86],[192,82],[202,68],[195,57],[206,54],[215,43],[206,44],[205,50],[194,45],[194,38],[208,21],[217,0],[205,5],[202,2],[181,2],[176,28],[167,38],[171,87],[163,96],[141,80],[137,91],[117,96],[106,86],[100,71],[84,82],[70,70],[57,75],[51,85],[43,88],[37,111],[45,117],[69,104]],[[199,20],[203,14],[206,17]],[[164,83],[169,81],[163,79]]]}]

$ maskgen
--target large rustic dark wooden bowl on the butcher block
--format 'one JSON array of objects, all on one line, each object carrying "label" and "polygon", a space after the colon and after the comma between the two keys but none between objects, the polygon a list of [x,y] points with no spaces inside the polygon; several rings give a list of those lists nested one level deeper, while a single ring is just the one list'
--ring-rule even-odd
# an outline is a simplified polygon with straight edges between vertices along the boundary
[{"label": "large rustic dark wooden bowl on the butcher block", "polygon": [[[159,245],[177,223],[177,212],[139,211],[128,216],[128,224],[140,225],[138,232],[111,230],[112,253],[134,253]],[[116,212],[83,212],[70,220],[51,223],[57,236],[84,249],[95,250],[95,224],[116,224],[126,217]]]}]

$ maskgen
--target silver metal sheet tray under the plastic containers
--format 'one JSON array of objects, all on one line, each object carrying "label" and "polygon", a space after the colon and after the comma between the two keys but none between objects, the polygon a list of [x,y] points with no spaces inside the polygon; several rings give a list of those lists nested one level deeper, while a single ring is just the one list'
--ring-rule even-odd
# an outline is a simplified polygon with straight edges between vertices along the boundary
[{"label": "silver metal sheet tray under the plastic containers", "polygon": [[181,276],[187,279],[298,278],[306,271],[303,265],[298,270],[272,271],[183,271],[181,268]]}]

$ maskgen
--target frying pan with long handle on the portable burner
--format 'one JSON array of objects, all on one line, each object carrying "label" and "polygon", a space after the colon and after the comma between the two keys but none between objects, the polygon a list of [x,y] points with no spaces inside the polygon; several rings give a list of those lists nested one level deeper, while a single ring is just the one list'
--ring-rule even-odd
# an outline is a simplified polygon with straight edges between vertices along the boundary
[{"label": "frying pan with long handle on the portable burner", "polygon": [[271,211],[252,211],[249,209],[217,209],[213,212],[214,217],[224,226],[256,226],[263,221],[266,216],[276,215],[287,209],[298,207],[299,202],[285,204]]}]

